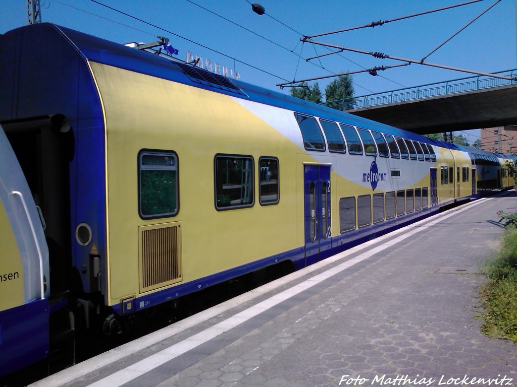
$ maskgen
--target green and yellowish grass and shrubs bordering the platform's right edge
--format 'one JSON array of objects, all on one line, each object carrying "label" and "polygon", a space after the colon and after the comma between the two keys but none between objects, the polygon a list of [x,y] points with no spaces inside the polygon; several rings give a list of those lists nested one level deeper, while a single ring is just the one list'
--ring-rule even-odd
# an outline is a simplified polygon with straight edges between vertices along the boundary
[{"label": "green and yellowish grass and shrubs bordering the platform's right edge", "polygon": [[482,287],[481,332],[517,344],[517,229],[508,227],[499,252],[484,263],[489,282]]}]

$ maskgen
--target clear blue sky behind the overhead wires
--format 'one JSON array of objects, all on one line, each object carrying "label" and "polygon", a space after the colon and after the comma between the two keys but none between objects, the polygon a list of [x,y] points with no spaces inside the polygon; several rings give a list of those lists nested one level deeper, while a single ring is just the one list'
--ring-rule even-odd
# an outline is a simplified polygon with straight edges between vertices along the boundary
[{"label": "clear blue sky behind the overhead wires", "polygon": [[[321,60],[313,60],[312,62],[317,65],[315,66],[307,63],[305,59],[299,59],[298,55],[307,58],[328,51],[322,46],[302,44],[299,40],[301,34],[313,35],[378,20],[389,20],[463,3],[466,0],[261,0],[259,3],[266,10],[266,14],[262,16],[251,10],[250,3],[257,0],[98,1],[170,32],[149,26],[92,0],[41,0],[42,21],[74,28],[119,43],[150,42],[156,40],[157,35],[165,36],[170,38],[171,44],[179,50],[179,59],[186,59],[188,50],[194,55],[202,56],[203,60],[210,59],[212,63],[217,62],[221,66],[235,69],[241,74],[240,79],[245,82],[279,90],[275,85],[285,82],[284,79],[311,78],[328,75],[330,72],[356,71],[400,63],[343,52],[339,56],[332,55]],[[194,3],[253,31],[256,35]],[[319,37],[315,40],[420,60],[494,3],[495,0],[483,0],[383,26]],[[0,34],[27,24],[26,0],[0,0],[0,7]],[[502,0],[429,56],[426,61],[488,73],[515,69],[515,20],[515,1]],[[27,47],[27,50],[30,48]],[[379,75],[354,75],[356,95],[469,76],[466,73],[417,64],[379,72]],[[322,91],[330,80],[318,81]],[[287,93],[288,89],[284,89],[283,92]]]}]

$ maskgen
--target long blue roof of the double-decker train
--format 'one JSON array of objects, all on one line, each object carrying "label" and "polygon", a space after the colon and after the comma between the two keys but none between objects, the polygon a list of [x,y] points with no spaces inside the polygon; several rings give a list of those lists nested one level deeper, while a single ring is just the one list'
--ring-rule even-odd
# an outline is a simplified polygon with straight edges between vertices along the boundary
[{"label": "long blue roof of the double-decker train", "polygon": [[[207,70],[193,67],[192,65],[185,65],[185,63],[163,58],[158,55],[152,55],[145,51],[136,50],[123,44],[97,38],[66,27],[60,27],[50,23],[41,23],[21,27],[13,31],[22,29],[24,30],[24,33],[29,36],[31,34],[37,34],[39,36],[42,34],[48,35],[48,39],[45,40],[45,42],[48,42],[47,44],[49,46],[55,44],[57,35],[60,35],[61,38],[65,38],[70,43],[70,50],[76,50],[84,60],[103,63],[104,65],[168,79],[173,82],[232,95],[237,98],[297,111],[324,119],[352,124],[355,126],[362,126],[372,130],[382,131],[387,134],[431,143],[438,147],[470,153],[496,155],[491,152],[461,147],[448,142],[424,137],[393,126],[331,109],[326,106],[303,101],[290,95],[254,86],[239,80],[226,78],[218,74],[210,73]],[[2,36],[0,38],[0,42],[2,42],[2,40],[9,39],[9,36],[13,31],[9,31],[9,33]],[[38,47],[38,49],[45,50],[45,47]],[[51,58],[49,58],[49,60],[50,59]],[[503,155],[499,155],[499,157],[501,156]]]}]

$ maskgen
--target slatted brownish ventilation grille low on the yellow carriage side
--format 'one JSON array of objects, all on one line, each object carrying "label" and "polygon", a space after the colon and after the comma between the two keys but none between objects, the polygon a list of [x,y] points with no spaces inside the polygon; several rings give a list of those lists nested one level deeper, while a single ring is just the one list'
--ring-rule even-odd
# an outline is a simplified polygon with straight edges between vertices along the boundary
[{"label": "slatted brownish ventilation grille low on the yellow carriage side", "polygon": [[141,226],[140,293],[181,281],[180,222]]}]

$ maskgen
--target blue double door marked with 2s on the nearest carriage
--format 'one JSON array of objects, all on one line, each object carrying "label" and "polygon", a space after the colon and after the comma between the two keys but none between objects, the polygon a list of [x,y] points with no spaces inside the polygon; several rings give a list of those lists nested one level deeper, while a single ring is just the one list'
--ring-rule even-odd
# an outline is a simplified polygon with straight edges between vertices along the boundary
[{"label": "blue double door marked with 2s on the nearest carriage", "polygon": [[311,265],[332,253],[330,238],[330,166],[306,165],[303,170],[305,192],[305,263]]}]

